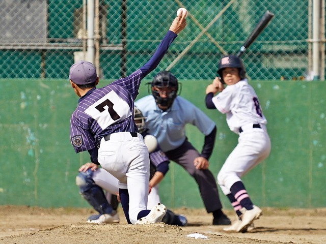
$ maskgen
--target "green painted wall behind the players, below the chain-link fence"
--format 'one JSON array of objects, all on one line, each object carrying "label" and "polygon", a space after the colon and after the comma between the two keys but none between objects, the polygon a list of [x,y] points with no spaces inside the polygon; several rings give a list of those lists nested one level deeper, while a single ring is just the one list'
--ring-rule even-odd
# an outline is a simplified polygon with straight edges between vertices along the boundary
[{"label": "green painted wall behind the players, below the chain-link fence", "polygon": [[[138,98],[148,95],[142,82]],[[108,83],[101,80],[100,86]],[[207,80],[180,80],[181,96],[196,104],[218,126],[210,170],[216,176],[237,143],[225,115],[205,108]],[[270,156],[243,181],[255,204],[270,207],[324,207],[326,174],[325,82],[250,81],[255,88],[272,142]],[[65,80],[0,80],[0,204],[42,207],[88,206],[75,176],[88,153],[75,154],[69,118],[78,98]],[[201,150],[204,136],[187,126]],[[195,180],[174,162],[160,184],[169,207],[203,207]],[[220,191],[225,208],[231,208]]]}]

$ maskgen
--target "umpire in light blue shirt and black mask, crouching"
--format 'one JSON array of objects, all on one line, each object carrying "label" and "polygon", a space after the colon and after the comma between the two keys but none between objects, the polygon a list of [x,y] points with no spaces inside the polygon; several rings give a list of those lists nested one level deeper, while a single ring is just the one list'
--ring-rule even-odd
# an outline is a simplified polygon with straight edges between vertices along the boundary
[{"label": "umpire in light blue shirt and black mask, crouching", "polygon": [[[215,178],[208,169],[217,130],[215,123],[194,104],[177,96],[179,83],[172,73],[159,72],[148,84],[152,95],[135,102],[146,117],[148,133],[157,138],[170,160],[194,177],[207,212],[213,214],[213,225],[230,225],[222,211]],[[201,154],[187,140],[186,124],[196,126],[205,135]]]}]

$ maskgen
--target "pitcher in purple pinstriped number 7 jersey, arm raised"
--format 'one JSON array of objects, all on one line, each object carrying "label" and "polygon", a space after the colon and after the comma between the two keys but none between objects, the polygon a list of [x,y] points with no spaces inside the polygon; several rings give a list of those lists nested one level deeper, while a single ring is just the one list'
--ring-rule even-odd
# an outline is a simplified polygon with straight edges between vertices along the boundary
[{"label": "pitcher in purple pinstriped number 7 jersey, arm raised", "polygon": [[166,213],[160,203],[147,210],[149,156],[134,124],[133,102],[141,80],[157,67],[185,25],[184,14],[176,17],[144,66],[102,88],[96,88],[99,77],[93,64],[80,61],[70,67],[70,84],[79,97],[70,118],[71,143],[76,153],[88,150],[92,163],[119,180],[121,205],[129,224],[160,222]]}]

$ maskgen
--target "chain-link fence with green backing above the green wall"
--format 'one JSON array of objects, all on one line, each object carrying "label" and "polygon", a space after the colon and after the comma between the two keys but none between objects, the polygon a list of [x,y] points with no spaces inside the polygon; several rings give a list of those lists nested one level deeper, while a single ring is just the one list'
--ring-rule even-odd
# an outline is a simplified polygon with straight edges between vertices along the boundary
[{"label": "chain-link fence with green backing above the green wall", "polygon": [[[94,65],[102,79],[140,68],[177,9],[185,7],[187,26],[153,72],[168,68],[179,79],[211,79],[221,56],[236,54],[269,10],[274,18],[242,55],[249,78],[309,79],[311,1],[95,0]],[[325,6],[320,2],[323,79]],[[0,78],[66,79],[69,67],[86,57],[86,6],[86,0],[0,0]]]}]

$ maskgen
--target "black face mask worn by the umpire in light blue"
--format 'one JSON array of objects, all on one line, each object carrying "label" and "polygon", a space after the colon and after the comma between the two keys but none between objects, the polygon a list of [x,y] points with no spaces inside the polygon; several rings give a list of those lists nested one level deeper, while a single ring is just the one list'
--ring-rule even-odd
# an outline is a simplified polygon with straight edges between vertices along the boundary
[{"label": "black face mask worn by the umpire in light blue", "polygon": [[156,104],[167,108],[172,106],[174,99],[180,94],[182,87],[181,83],[178,82],[178,79],[174,76],[174,74],[169,71],[159,72],[157,75],[155,75],[152,82],[147,84],[151,85],[151,92],[155,98]]}]

